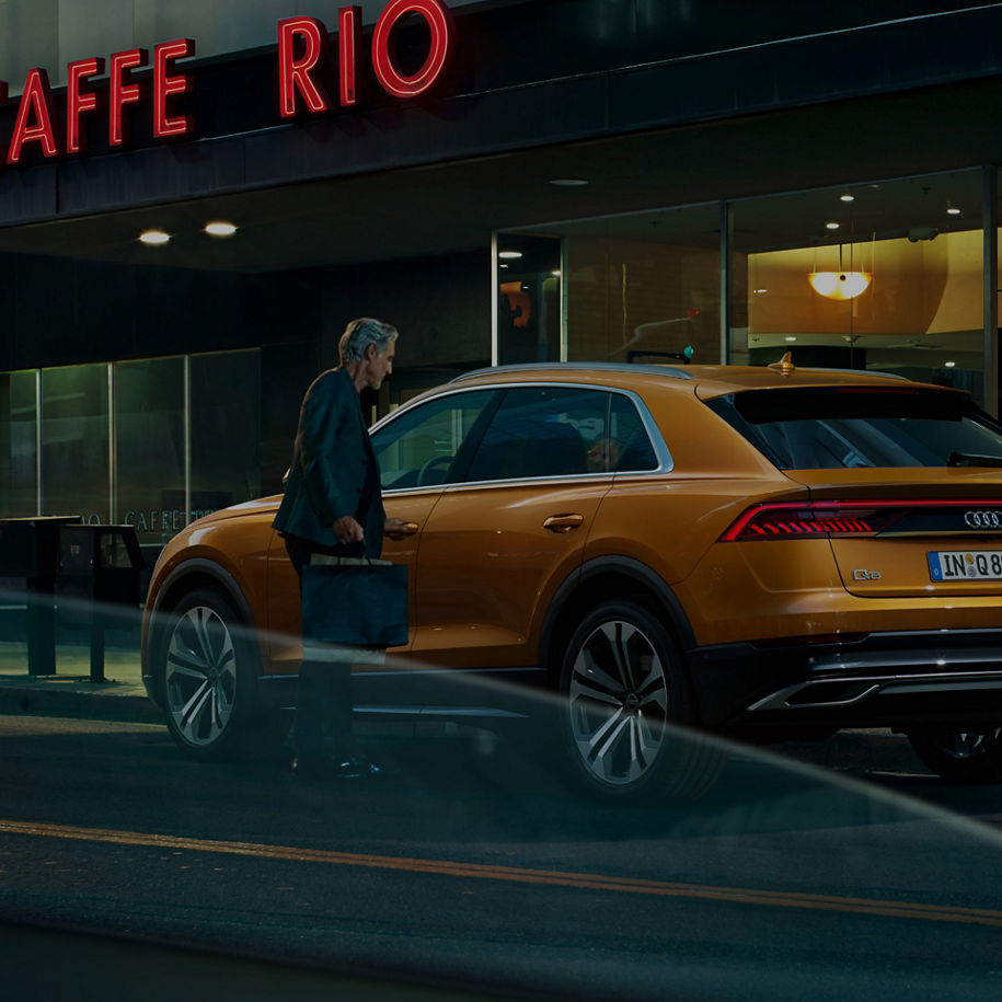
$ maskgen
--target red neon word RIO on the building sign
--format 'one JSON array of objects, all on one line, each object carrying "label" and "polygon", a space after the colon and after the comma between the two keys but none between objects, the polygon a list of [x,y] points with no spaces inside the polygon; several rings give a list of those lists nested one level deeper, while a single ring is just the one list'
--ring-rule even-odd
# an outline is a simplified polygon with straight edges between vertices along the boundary
[{"label": "red neon word RIO on the building sign", "polygon": [[[408,14],[424,19],[431,36],[424,66],[405,76],[393,58],[396,28]],[[342,107],[359,101],[358,49],[361,9],[343,7],[337,12],[337,94]],[[310,114],[329,111],[331,100],[318,79],[324,72],[327,32],[314,18],[290,18],[278,24],[278,110],[291,118],[300,107]],[[452,56],[452,14],[441,0],[390,0],[372,32],[372,70],[380,87],[394,97],[416,97],[444,73]],[[297,95],[298,99],[297,100]]]}]

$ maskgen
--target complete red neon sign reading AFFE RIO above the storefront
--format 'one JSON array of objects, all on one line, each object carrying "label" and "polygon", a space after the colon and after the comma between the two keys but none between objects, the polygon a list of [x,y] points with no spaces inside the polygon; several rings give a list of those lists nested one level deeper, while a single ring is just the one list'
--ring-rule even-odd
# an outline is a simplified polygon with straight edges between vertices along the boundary
[{"label": "complete red neon sign reading AFFE RIO above the storefront", "polygon": [[[404,72],[396,58],[396,30],[411,15],[422,18],[430,42],[423,66]],[[456,31],[452,14],[442,0],[390,0],[372,31],[368,59],[372,74],[387,94],[414,99],[439,81],[452,56]],[[277,105],[283,118],[321,115],[336,107],[352,108],[364,100],[361,60],[367,57],[361,35],[361,8],[337,11],[336,50],[330,33],[316,18],[288,18],[278,22]],[[191,138],[195,123],[183,108],[194,89],[191,76],[176,62],[195,55],[192,38],[176,38],[147,49],[114,53],[107,60],[91,57],[66,68],[66,97],[57,106],[48,73],[28,70],[9,136],[0,136],[5,163],[26,159],[73,157],[87,152],[88,129],[97,116],[104,119],[107,145],[114,150],[129,145],[129,124],[146,115],[154,139]],[[134,73],[149,69],[149,81]],[[106,81],[102,78],[107,74]],[[0,81],[0,101],[8,100],[8,84]]]}]

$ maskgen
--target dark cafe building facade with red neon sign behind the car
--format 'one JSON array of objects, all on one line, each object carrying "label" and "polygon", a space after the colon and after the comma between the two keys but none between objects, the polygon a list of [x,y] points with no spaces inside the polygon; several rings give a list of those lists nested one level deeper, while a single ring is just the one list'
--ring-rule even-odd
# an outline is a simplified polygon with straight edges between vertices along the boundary
[{"label": "dark cafe building facade with red neon sign behind the car", "polygon": [[998,410],[1002,4],[9,0],[0,516],[157,548],[280,490],[346,321],[383,413],[537,359],[869,368]]}]

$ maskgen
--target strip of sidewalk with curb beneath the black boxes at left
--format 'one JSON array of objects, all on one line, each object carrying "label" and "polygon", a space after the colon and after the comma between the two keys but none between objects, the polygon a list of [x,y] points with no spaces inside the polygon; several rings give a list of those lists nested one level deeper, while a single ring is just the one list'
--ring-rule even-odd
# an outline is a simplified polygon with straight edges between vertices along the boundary
[{"label": "strip of sidewalk with curb beneath the black boxes at left", "polygon": [[142,687],[138,650],[108,647],[105,682],[91,681],[87,645],[59,644],[56,673],[27,672],[27,644],[0,642],[0,713],[162,724]]}]

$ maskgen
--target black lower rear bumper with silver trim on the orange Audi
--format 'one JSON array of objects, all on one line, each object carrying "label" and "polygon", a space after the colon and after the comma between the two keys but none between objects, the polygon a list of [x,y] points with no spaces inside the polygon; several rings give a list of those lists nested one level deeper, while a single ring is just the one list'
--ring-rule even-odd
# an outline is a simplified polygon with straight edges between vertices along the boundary
[{"label": "black lower rear bumper with silver trim on the orange Audi", "polygon": [[689,661],[700,718],[714,728],[1002,721],[1002,630],[724,644],[692,650]]}]

